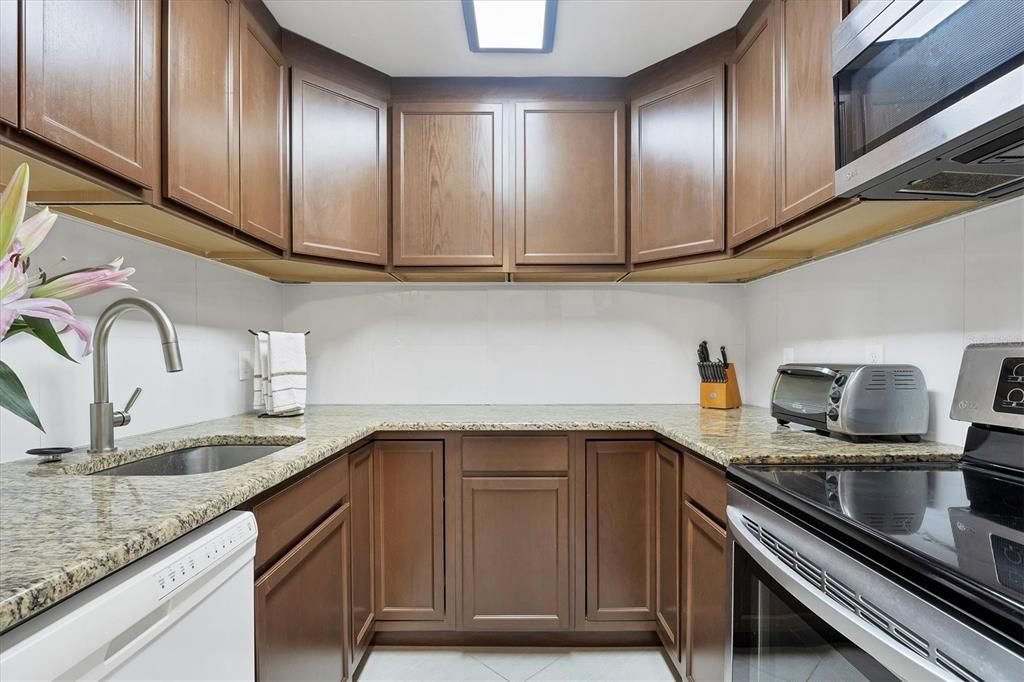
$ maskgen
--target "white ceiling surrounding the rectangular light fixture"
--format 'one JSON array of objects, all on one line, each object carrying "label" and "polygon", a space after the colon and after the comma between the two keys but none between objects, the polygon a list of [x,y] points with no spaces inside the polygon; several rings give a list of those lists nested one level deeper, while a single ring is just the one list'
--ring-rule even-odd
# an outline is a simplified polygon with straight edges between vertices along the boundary
[{"label": "white ceiling surrounding the rectangular light fixture", "polygon": [[550,54],[469,51],[459,0],[265,0],[286,29],[389,76],[628,76],[732,28],[751,0],[560,0]]}]

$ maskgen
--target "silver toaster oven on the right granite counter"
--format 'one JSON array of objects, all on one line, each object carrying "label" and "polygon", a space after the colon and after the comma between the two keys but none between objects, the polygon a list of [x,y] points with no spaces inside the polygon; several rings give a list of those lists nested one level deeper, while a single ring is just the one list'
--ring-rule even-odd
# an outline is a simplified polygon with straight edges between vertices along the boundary
[{"label": "silver toaster oven on the right granite counter", "polygon": [[772,387],[771,414],[853,440],[928,431],[928,387],[913,365],[782,365]]}]

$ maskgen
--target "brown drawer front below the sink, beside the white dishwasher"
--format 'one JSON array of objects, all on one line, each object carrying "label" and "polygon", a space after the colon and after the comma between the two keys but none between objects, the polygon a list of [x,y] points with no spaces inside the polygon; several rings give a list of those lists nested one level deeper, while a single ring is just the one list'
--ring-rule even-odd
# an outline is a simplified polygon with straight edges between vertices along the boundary
[{"label": "brown drawer front below the sink, beside the white dishwasher", "polygon": [[259,537],[256,573],[283,555],[348,498],[348,456],[316,469],[253,507]]}]

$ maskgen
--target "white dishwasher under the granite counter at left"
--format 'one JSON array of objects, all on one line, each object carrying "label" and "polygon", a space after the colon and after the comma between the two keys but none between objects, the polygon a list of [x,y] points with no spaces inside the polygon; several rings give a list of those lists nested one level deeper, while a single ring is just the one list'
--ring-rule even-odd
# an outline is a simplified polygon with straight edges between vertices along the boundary
[{"label": "white dishwasher under the granite counter at left", "polygon": [[256,532],[228,512],[27,621],[0,679],[254,679]]}]

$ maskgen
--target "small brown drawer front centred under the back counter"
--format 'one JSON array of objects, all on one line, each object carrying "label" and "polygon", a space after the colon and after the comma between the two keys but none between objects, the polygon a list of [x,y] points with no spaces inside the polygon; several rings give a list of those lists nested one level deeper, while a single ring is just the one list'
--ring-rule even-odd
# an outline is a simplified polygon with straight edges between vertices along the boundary
[{"label": "small brown drawer front centred under the back counter", "polygon": [[569,438],[557,436],[466,436],[464,473],[568,471]]}]

